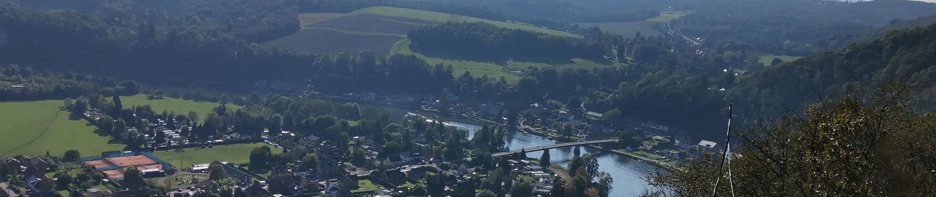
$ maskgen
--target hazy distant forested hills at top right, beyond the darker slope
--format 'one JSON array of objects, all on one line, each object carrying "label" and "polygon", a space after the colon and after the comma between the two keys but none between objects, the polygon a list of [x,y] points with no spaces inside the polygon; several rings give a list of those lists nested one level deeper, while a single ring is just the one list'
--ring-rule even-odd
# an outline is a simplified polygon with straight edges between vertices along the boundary
[{"label": "hazy distant forested hills at top right, beyond the darker slope", "polygon": [[936,4],[916,1],[756,0],[739,3],[724,0],[708,3],[672,21],[673,29],[684,35],[706,38],[716,45],[747,43],[768,53],[798,56],[846,44],[837,40],[820,41],[828,35],[856,34],[895,20],[936,15]]}]

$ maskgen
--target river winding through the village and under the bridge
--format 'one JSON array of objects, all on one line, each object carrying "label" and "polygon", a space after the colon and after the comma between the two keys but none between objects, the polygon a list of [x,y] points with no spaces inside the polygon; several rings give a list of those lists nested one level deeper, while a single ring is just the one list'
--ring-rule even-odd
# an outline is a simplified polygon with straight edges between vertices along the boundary
[{"label": "river winding through the village and under the bridge", "polygon": [[[375,105],[362,105],[375,106]],[[382,109],[388,109],[394,116],[392,120],[402,120],[406,113],[417,113],[429,117],[431,120],[443,120],[446,125],[454,126],[468,131],[468,139],[474,136],[475,131],[480,130],[483,122],[464,119],[458,116],[443,115],[426,111],[415,111],[397,106],[376,106]],[[441,115],[441,117],[440,117]],[[543,145],[556,144],[555,140],[548,139],[534,134],[520,132],[509,133],[505,136],[506,146],[509,149],[531,148]],[[591,154],[598,159],[598,170],[605,171],[614,179],[613,188],[608,196],[637,196],[650,186],[643,179],[644,176],[656,172],[657,167],[645,162],[637,162],[627,156],[622,156],[610,152],[603,152],[596,148],[582,147],[581,154]],[[539,158],[543,151],[527,152],[527,157]],[[549,157],[553,163],[561,166],[567,166],[572,159],[573,148],[553,148],[549,149]]]}]

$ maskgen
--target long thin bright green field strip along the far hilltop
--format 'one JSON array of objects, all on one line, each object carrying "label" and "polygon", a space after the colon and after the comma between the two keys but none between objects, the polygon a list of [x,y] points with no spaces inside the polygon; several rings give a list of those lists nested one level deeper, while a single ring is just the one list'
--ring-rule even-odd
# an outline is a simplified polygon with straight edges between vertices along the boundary
[{"label": "long thin bright green field strip along the far hilltop", "polygon": [[367,7],[363,9],[358,9],[357,11],[351,12],[350,14],[372,14],[372,15],[400,17],[400,18],[409,18],[409,19],[436,21],[436,22],[487,22],[487,23],[496,25],[498,27],[503,27],[503,28],[508,28],[508,29],[533,31],[533,32],[547,34],[547,35],[560,35],[560,36],[578,37],[578,38],[582,37],[581,35],[575,35],[575,34],[568,33],[568,32],[551,30],[547,28],[536,27],[536,26],[526,25],[522,23],[491,21],[491,20],[486,20],[486,19],[478,19],[474,17],[465,17],[465,16],[454,15],[454,14],[446,14],[442,12],[399,8],[399,7]]}]

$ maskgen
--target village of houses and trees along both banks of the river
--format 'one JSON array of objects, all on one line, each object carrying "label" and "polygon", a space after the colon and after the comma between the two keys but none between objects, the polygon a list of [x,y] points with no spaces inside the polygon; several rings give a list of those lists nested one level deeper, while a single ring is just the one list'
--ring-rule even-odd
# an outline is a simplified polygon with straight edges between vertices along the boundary
[{"label": "village of houses and trees along both banks of the river", "polygon": [[[620,112],[598,113],[584,108],[533,104],[519,111],[516,119],[510,119],[507,114],[511,113],[500,103],[446,106],[458,100],[458,96],[447,90],[441,94],[447,102],[433,96],[377,96],[373,92],[344,96],[358,102],[377,101],[387,105],[418,106],[419,110],[428,112],[448,112],[516,132],[546,136],[557,143],[618,139],[615,143],[585,146],[670,170],[679,169],[680,161],[712,158],[719,152],[714,142],[691,140],[686,135],[678,135],[684,131],[652,121],[622,118]],[[225,111],[225,108],[221,105],[216,111]],[[0,185],[6,191],[0,192],[0,197],[56,194],[120,197],[134,196],[134,190],[166,190],[167,195],[173,197],[195,196],[199,192],[231,192],[235,196],[423,196],[431,192],[463,193],[490,176],[528,182],[534,196],[550,196],[557,187],[554,184],[559,184],[555,180],[574,176],[563,166],[547,166],[548,162],[540,161],[541,158],[527,158],[525,154],[490,158],[490,155],[469,151],[463,157],[442,157],[441,148],[431,146],[438,141],[433,142],[427,134],[418,134],[410,127],[401,132],[414,135],[411,148],[391,151],[400,153],[388,155],[385,154],[388,144],[368,135],[348,136],[346,142],[339,143],[282,128],[265,129],[256,134],[234,133],[233,128],[228,128],[226,132],[216,133],[224,135],[205,136],[197,134],[198,128],[204,125],[199,126],[196,121],[166,119],[173,116],[148,112],[145,107],[134,110],[133,122],[142,125],[102,123],[114,121],[109,115],[113,111],[102,108],[82,110],[80,115],[98,127],[108,128],[115,137],[127,140],[125,143],[139,144],[139,149],[92,153],[80,158],[68,152],[64,157],[48,154],[9,157],[4,165],[8,166],[10,176],[7,179],[10,180]],[[405,117],[404,125],[435,121],[413,113]],[[249,159],[227,157],[231,161],[186,163],[177,161],[184,160],[182,158],[175,158],[176,154],[189,151],[236,146],[248,146],[241,155],[249,151]],[[266,152],[255,157],[257,149]],[[501,168],[508,169],[507,175],[492,170]],[[137,178],[135,181],[139,183],[128,184],[134,181],[127,181],[127,177]]]}]

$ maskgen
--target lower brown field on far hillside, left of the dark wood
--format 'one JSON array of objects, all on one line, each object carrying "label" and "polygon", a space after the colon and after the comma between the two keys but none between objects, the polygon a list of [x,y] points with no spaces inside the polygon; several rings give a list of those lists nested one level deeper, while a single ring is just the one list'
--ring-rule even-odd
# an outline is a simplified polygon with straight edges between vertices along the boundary
[{"label": "lower brown field on far hillside, left of the dark wood", "polygon": [[300,53],[335,53],[341,50],[358,52],[373,49],[387,54],[393,43],[402,37],[394,35],[356,35],[325,29],[306,29],[295,35],[263,43],[262,46],[290,49]]}]

